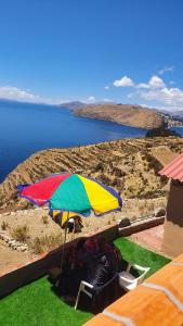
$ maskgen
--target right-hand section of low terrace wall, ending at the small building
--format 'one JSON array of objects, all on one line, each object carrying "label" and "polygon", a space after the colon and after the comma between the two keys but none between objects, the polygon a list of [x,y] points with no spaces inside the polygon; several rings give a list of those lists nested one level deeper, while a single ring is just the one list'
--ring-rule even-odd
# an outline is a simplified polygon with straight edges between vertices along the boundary
[{"label": "right-hand section of low terrace wall, ending at the small building", "polygon": [[146,221],[136,222],[130,226],[119,228],[119,236],[128,237],[128,236],[131,236],[132,234],[140,233],[144,229],[161,225],[161,224],[164,224],[164,222],[165,222],[165,216],[151,217],[149,220],[146,220]]}]

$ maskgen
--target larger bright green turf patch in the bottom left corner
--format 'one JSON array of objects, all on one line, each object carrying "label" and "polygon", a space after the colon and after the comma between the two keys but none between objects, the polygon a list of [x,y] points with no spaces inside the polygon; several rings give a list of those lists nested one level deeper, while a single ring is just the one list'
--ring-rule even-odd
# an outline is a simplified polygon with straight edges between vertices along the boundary
[{"label": "larger bright green turf patch in the bottom left corner", "polygon": [[47,277],[40,278],[0,301],[2,326],[77,326],[92,314],[75,311],[51,291]]}]

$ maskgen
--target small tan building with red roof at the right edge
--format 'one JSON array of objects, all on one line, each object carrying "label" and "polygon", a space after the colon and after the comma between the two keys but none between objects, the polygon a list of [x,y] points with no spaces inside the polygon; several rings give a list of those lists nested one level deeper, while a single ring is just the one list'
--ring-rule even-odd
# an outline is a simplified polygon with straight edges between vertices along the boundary
[{"label": "small tan building with red roof at the right edge", "polygon": [[159,174],[171,178],[161,249],[175,256],[183,252],[183,153]]}]

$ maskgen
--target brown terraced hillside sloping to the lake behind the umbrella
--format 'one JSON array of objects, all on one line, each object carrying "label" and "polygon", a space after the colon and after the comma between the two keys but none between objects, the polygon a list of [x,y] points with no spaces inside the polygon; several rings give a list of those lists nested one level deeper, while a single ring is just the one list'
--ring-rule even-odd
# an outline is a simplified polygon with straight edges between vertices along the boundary
[{"label": "brown terraced hillside sloping to the lake behind the umbrella", "polygon": [[158,175],[162,166],[156,154],[159,150],[162,154],[168,150],[181,152],[183,139],[122,139],[36,152],[0,184],[0,209],[12,210],[28,204],[17,198],[17,185],[34,183],[52,173],[64,171],[96,177],[122,191],[123,198],[160,197],[166,192],[167,179]]}]

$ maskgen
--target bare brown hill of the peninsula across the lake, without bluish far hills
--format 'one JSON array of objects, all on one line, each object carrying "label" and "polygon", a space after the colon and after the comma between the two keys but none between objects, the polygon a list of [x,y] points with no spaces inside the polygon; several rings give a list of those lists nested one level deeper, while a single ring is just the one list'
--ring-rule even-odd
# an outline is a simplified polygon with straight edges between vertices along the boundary
[{"label": "bare brown hill of the peninsula across the lake, without bluish far hills", "polygon": [[86,105],[75,114],[147,129],[160,127],[164,120],[155,110],[130,104]]}]

